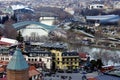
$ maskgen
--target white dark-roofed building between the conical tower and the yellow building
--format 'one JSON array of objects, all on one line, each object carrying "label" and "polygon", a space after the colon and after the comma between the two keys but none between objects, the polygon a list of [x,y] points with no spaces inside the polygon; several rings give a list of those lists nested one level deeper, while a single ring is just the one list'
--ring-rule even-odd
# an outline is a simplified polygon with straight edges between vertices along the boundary
[{"label": "white dark-roofed building between the conical tower and the yellow building", "polygon": [[36,67],[42,69],[51,69],[52,55],[51,52],[33,50],[29,51],[29,56],[25,56],[26,61],[36,64]]}]

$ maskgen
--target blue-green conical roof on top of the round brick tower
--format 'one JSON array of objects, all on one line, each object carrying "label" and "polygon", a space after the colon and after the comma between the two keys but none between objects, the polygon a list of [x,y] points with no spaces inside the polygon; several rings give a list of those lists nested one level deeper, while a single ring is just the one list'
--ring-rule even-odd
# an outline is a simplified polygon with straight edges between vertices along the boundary
[{"label": "blue-green conical roof on top of the round brick tower", "polygon": [[21,50],[19,48],[16,49],[15,53],[13,54],[7,69],[10,70],[25,70],[27,69],[28,63],[25,61],[24,56],[21,53]]}]

